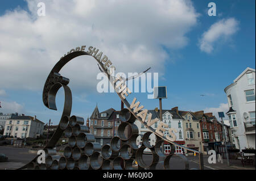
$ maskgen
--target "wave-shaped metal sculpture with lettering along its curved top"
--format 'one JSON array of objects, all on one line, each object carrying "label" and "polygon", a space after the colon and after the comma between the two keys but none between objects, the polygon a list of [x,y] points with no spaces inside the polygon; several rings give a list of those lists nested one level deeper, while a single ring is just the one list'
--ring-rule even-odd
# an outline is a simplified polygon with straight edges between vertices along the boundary
[{"label": "wave-shaped metal sculpture with lettering along its curved top", "polygon": [[[184,146],[176,144],[170,139],[170,137],[164,137],[161,133],[161,131],[165,131],[163,123],[160,123],[160,127],[156,131],[152,129],[150,125],[154,124],[157,120],[151,120],[151,115],[149,115],[150,119],[148,119],[147,123],[145,123],[144,118],[146,117],[145,113],[147,114],[147,110],[142,110],[143,106],[139,107],[139,102],[135,103],[136,98],[134,98],[131,105],[129,102],[127,102],[125,96],[131,94],[131,92],[123,83],[121,77],[116,78],[111,75],[112,72],[110,68],[115,69],[112,62],[106,55],[101,58],[103,53],[98,53],[98,49],[89,47],[88,51],[85,52],[85,47],[86,46],[81,46],[81,48],[77,47],[76,49],[72,49],[67,53],[67,55],[65,54],[63,57],[61,57],[60,61],[57,62],[57,64],[53,67],[46,79],[43,89],[43,103],[46,107],[51,110],[57,110],[55,98],[60,87],[64,88],[65,94],[64,108],[59,126],[51,137],[51,140],[44,148],[46,153],[46,163],[39,164],[37,162],[37,156],[30,163],[21,167],[20,169],[155,169],[156,165],[158,164],[159,157],[164,158],[164,169],[170,169],[169,162],[171,157],[175,155],[175,145],[183,149],[199,153],[200,169],[203,169],[203,157],[200,151],[185,148]],[[100,144],[95,142],[93,134],[89,133],[89,128],[84,125],[84,119],[79,116],[71,116],[72,93],[67,86],[69,79],[59,74],[59,71],[65,64],[67,64],[73,58],[82,55],[92,56],[96,59],[101,71],[103,70],[108,76],[108,79],[115,87],[115,91],[117,92],[119,98],[127,107],[119,112],[119,118],[121,119],[122,123],[118,127],[118,136],[113,137],[110,144],[102,147]],[[118,81],[120,83],[117,83]],[[141,112],[137,113],[139,110],[141,110]],[[136,144],[137,137],[139,136],[138,128],[134,124],[136,119],[141,121],[141,123],[148,128],[148,132],[142,137],[143,143],[140,148]],[[131,134],[128,136],[125,134],[126,127],[131,128]],[[55,148],[55,145],[63,132],[64,136],[68,138],[68,146],[66,146],[64,149],[64,157],[60,157],[56,154],[56,150],[53,148]],[[148,142],[148,138],[151,133],[154,133],[156,136],[155,146],[150,145]],[[169,142],[171,145],[171,153],[169,155],[165,155],[162,152],[161,145],[164,141]],[[120,145],[118,145],[118,142]],[[152,161],[150,164],[145,163],[142,157],[143,151],[146,148],[150,149],[152,152]],[[184,155],[178,156],[181,157],[182,161],[184,162],[184,169],[189,169],[187,158]],[[135,161],[138,163],[137,168],[133,167],[133,163]],[[124,166],[121,165],[121,162],[124,163]]]}]

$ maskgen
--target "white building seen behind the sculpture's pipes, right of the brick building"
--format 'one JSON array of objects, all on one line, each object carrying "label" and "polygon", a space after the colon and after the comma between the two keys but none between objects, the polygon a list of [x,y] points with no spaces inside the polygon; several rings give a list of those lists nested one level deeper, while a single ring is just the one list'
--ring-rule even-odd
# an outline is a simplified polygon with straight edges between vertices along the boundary
[{"label": "white building seen behind the sculpture's pipes, right of the brick building", "polygon": [[[158,118],[159,121],[156,122],[155,124],[151,125],[151,127],[153,129],[156,129],[158,127],[158,124],[160,123],[160,113],[159,113],[159,110],[148,110],[148,113],[151,113],[152,114],[152,118],[151,119],[155,119],[155,118]],[[163,122],[166,123],[168,125],[168,129],[169,128],[175,128],[177,130],[177,133],[175,133],[175,136],[176,136],[176,141],[177,144],[180,144],[182,146],[184,146],[185,144],[185,141],[184,141],[184,133],[183,133],[183,118],[178,115],[176,113],[176,111],[174,110],[163,110],[162,111],[162,116],[163,116]],[[148,115],[146,117],[146,122],[147,122],[147,118],[148,118]],[[141,145],[142,144],[142,137],[143,137],[143,134],[146,133],[146,132],[149,132],[147,128],[144,127],[143,124],[141,124],[140,121],[136,120],[135,125],[137,125],[138,129],[139,129],[139,134],[141,134],[141,140],[137,140],[137,144],[138,145]],[[164,136],[167,136],[169,133],[166,131],[164,133]],[[154,145],[155,144],[155,141],[156,141],[156,137],[154,136],[154,134],[151,134],[150,135],[150,145]],[[170,148],[170,145],[168,144],[164,144],[164,150],[165,152],[168,154],[171,150]],[[148,149],[145,149],[144,151],[149,151]],[[176,153],[183,153],[184,151],[177,147],[176,148]]]}]

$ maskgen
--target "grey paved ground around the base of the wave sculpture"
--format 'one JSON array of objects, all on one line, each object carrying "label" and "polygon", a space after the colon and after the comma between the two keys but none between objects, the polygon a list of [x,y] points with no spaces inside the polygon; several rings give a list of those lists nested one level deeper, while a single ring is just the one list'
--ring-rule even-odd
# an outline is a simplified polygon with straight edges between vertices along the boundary
[{"label": "grey paved ground around the base of the wave sculpture", "polygon": [[[36,153],[30,153],[30,148],[15,148],[13,146],[0,146],[0,154],[5,154],[8,157],[8,162],[0,162],[0,170],[5,169],[18,169],[26,165],[33,158],[35,158]],[[246,165],[242,166],[241,160],[230,160],[230,166],[228,166],[226,159],[223,159],[223,163],[208,163],[209,155],[204,155],[204,169],[205,170],[255,170],[255,166]],[[200,169],[199,168],[199,157],[188,155],[189,169]],[[152,161],[152,155],[144,154],[143,160],[147,165],[150,165]],[[164,169],[163,158],[159,158],[159,163],[156,165],[156,169]],[[184,162],[179,157],[172,157],[170,159],[170,169],[172,170],[182,170],[184,169]]]}]

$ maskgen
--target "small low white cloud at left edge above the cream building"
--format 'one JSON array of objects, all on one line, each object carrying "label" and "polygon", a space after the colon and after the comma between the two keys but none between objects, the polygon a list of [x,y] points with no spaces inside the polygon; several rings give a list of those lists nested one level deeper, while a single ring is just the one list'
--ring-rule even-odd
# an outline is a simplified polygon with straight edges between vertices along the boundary
[{"label": "small low white cloud at left edge above the cream building", "polygon": [[16,102],[1,101],[1,110],[3,113],[24,113],[24,105]]}]

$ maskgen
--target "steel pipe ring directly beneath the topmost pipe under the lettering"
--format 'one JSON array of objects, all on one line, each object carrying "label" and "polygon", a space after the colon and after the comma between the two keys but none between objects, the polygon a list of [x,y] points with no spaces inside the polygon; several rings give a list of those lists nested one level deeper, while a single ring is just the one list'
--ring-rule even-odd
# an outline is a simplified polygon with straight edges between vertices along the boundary
[{"label": "steel pipe ring directly beneath the topmost pipe under the lettering", "polygon": [[[125,128],[126,127],[130,127],[131,128],[131,134],[126,136],[125,135]],[[138,134],[139,133],[139,129],[137,127],[137,125],[135,124],[131,124],[131,123],[127,123],[127,122],[123,122],[119,125],[118,129],[117,129],[117,133],[119,138],[122,141],[127,141],[129,140],[129,138],[133,135],[133,134]]]}]

